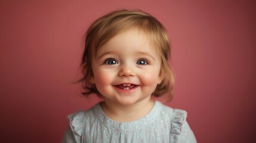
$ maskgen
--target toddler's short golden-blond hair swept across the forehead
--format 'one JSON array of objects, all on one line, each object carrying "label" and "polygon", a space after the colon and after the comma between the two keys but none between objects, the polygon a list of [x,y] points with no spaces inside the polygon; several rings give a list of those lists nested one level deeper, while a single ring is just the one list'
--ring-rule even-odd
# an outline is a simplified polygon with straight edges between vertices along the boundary
[{"label": "toddler's short golden-blond hair swept across the forehead", "polygon": [[95,52],[97,52],[97,49],[113,38],[113,36],[132,28],[144,32],[150,44],[155,46],[161,55],[161,72],[164,73],[164,79],[156,86],[152,95],[160,97],[166,94],[171,100],[174,86],[174,73],[168,64],[171,49],[166,29],[155,17],[140,10],[113,11],[112,13],[98,18],[91,24],[86,33],[85,50],[81,63],[84,76],[79,80],[79,82],[82,82],[82,86],[85,89],[85,92],[82,92],[83,95],[101,95],[95,84],[90,82],[93,76],[91,65],[92,54],[95,54],[92,53],[92,48],[95,48]]}]

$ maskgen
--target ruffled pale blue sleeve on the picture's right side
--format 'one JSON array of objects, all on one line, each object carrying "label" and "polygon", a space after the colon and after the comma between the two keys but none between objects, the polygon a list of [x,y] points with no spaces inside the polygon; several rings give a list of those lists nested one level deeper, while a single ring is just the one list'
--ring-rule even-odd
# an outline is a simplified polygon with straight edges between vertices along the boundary
[{"label": "ruffled pale blue sleeve on the picture's right side", "polygon": [[171,120],[171,142],[183,143],[191,142],[196,143],[195,135],[186,122],[187,112],[180,109],[174,109]]}]

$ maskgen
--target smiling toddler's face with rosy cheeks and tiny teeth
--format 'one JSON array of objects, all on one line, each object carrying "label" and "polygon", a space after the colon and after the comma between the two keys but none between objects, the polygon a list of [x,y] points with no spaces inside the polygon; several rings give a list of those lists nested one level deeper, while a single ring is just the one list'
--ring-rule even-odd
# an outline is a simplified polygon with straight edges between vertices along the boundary
[{"label": "smiling toddler's face with rosy cheeks and tiny teeth", "polygon": [[[93,51],[95,53],[95,51]],[[161,57],[146,35],[127,30],[92,54],[91,82],[106,101],[131,105],[149,100],[162,82]]]}]

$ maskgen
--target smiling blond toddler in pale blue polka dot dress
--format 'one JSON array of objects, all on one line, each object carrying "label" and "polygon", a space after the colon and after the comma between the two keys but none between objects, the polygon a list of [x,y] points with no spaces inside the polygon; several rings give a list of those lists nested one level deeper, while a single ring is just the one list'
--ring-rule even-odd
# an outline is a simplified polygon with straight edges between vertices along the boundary
[{"label": "smiling blond toddler in pale blue polka dot dress", "polygon": [[166,30],[143,11],[98,18],[87,31],[81,79],[104,100],[68,116],[63,142],[196,142],[184,110],[153,96],[172,97],[174,74]]}]

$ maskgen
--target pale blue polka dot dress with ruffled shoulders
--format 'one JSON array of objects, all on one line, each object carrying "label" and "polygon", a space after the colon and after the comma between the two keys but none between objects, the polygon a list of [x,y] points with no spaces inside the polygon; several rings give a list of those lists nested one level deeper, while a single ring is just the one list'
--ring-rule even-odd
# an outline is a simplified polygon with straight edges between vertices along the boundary
[{"label": "pale blue polka dot dress with ruffled shoulders", "polygon": [[196,142],[186,122],[187,112],[172,109],[155,101],[152,110],[134,122],[109,119],[95,105],[88,111],[77,111],[68,118],[63,142]]}]

